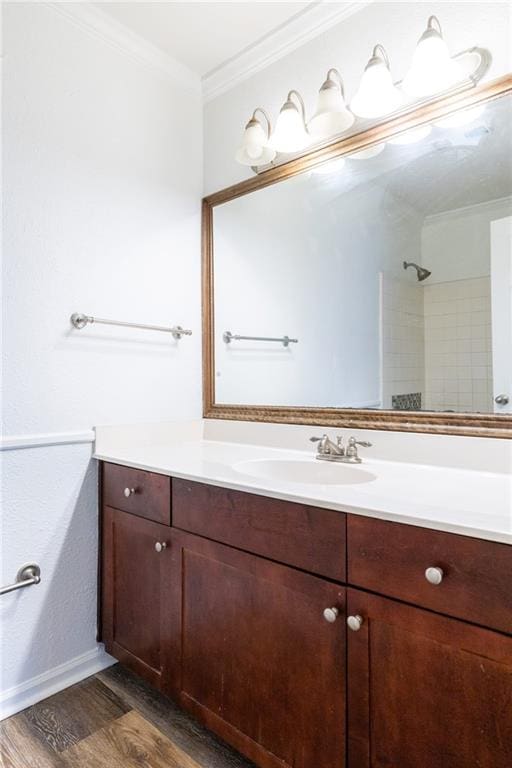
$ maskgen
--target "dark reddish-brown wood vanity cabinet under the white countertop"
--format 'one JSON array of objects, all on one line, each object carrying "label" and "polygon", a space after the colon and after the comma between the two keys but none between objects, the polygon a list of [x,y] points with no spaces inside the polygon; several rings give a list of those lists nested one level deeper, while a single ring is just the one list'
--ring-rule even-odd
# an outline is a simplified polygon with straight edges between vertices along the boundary
[{"label": "dark reddish-brown wood vanity cabinet under the white countertop", "polygon": [[109,653],[262,768],[510,766],[510,544],[157,469],[101,465]]}]

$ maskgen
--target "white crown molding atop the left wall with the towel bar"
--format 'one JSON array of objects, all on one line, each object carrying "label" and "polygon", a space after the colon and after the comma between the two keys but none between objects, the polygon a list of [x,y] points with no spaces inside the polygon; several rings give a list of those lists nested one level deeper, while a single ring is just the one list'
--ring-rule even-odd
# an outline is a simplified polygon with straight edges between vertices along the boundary
[{"label": "white crown molding atop the left wall with the towel bar", "polygon": [[191,69],[90,3],[44,2],[41,5],[137,64],[149,67],[167,80],[200,92],[200,78]]}]

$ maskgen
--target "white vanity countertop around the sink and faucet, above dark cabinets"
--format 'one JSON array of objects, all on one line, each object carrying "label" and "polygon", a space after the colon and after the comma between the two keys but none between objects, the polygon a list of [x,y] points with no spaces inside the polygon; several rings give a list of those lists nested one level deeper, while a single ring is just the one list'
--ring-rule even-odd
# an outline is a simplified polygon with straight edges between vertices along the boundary
[{"label": "white vanity countertop around the sink and faucet, above dark cabinets", "polygon": [[512,544],[510,473],[385,461],[371,458],[370,449],[361,449],[361,465],[335,467],[340,477],[347,469],[370,472],[375,476],[370,482],[322,485],[254,477],[246,473],[251,465],[244,466],[243,462],[280,459],[319,463],[315,448],[303,451],[247,444],[240,442],[239,436],[233,442],[212,440],[205,438],[200,422],[190,424],[191,428],[182,424],[171,432],[160,428],[152,435],[141,427],[133,431],[97,428],[94,456],[261,496]]}]

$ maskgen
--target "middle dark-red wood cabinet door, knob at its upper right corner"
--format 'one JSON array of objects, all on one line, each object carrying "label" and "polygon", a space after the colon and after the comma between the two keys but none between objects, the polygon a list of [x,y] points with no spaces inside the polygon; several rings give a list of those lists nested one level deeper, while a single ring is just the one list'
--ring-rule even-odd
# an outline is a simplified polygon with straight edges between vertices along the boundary
[{"label": "middle dark-red wood cabinet door, knob at its upper right corner", "polygon": [[197,536],[178,541],[182,704],[264,768],[343,768],[344,588]]}]

